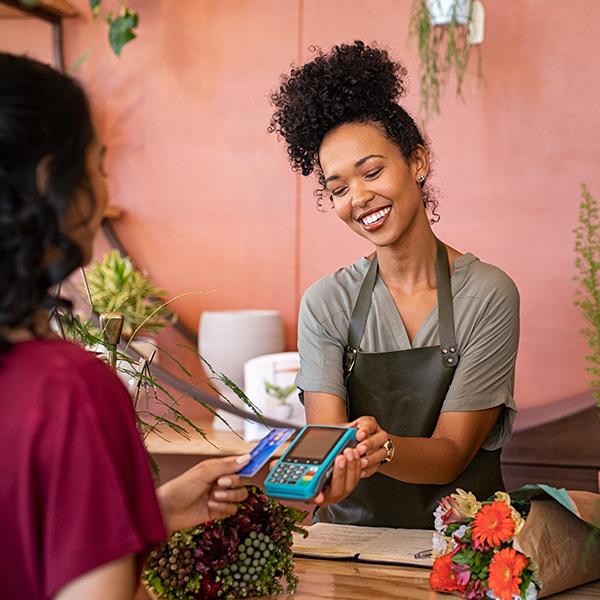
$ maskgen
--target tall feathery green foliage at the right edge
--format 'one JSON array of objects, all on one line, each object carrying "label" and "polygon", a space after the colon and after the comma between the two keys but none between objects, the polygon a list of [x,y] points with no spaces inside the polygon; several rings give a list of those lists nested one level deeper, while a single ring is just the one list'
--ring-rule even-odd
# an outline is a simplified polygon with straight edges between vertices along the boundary
[{"label": "tall feathery green foliage at the right edge", "polygon": [[600,219],[598,202],[585,183],[581,184],[579,225],[575,233],[574,280],[578,284],[575,305],[581,309],[587,321],[582,333],[590,347],[586,360],[591,375],[592,395],[600,406]]}]

